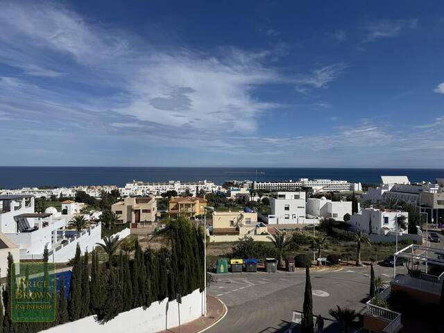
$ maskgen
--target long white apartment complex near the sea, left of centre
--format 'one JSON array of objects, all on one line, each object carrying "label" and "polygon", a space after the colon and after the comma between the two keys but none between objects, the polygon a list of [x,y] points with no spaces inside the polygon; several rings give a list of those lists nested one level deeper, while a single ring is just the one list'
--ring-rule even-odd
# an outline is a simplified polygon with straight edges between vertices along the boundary
[{"label": "long white apartment complex near the sea, left of centre", "polygon": [[182,194],[189,191],[191,196],[196,196],[200,190],[205,193],[219,191],[222,187],[208,182],[207,180],[198,182],[180,182],[179,180],[170,180],[169,182],[140,182],[133,180],[128,182],[125,187],[119,189],[122,196],[160,196],[167,191],[176,191]]}]

